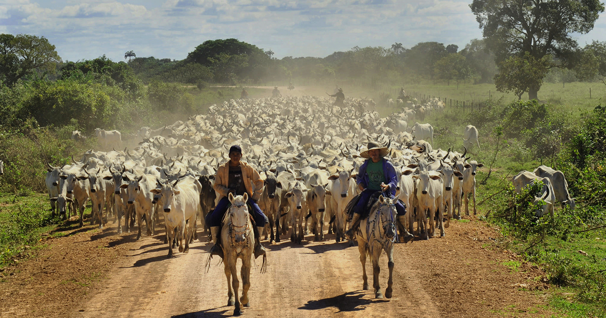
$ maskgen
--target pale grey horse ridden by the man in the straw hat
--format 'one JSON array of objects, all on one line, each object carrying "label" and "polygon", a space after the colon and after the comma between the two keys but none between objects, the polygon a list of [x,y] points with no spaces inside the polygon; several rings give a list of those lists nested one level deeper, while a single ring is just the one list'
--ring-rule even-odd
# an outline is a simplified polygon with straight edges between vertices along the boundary
[{"label": "pale grey horse ridden by the man in the straw hat", "polygon": [[393,285],[393,243],[396,240],[396,200],[379,196],[379,201],[370,209],[367,219],[360,222],[358,231],[358,250],[360,251],[360,262],[362,263],[362,279],[364,279],[364,290],[368,290],[368,277],[366,275],[366,254],[373,262],[373,287],[375,297],[383,298],[379,286],[379,257],[385,250],[387,253],[387,267],[389,268],[389,280],[385,297],[391,298]]}]

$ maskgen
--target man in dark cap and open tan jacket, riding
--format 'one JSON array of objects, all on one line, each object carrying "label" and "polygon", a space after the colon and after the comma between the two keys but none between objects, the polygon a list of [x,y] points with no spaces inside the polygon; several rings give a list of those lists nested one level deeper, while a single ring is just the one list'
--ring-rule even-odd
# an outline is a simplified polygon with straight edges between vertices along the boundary
[{"label": "man in dark cap and open tan jacket, riding", "polygon": [[[255,219],[256,230],[255,233],[255,258],[265,254],[265,248],[261,245],[260,237],[263,233],[263,228],[267,224],[267,216],[263,214],[257,201],[261,197],[263,191],[263,180],[255,168],[251,167],[244,161],[240,161],[242,158],[242,148],[238,145],[231,146],[229,150],[230,161],[221,165],[215,175],[215,191],[217,191],[222,197],[219,203],[215,207],[213,213],[208,214],[206,222],[210,226],[210,234],[212,236],[215,245],[210,249],[211,256],[218,255],[223,257],[223,250],[218,246],[219,230],[221,227],[221,221],[227,208],[230,205],[230,201],[227,198],[228,194],[233,193],[234,196],[242,196],[244,193],[248,193],[247,204],[251,207],[251,214]],[[252,191],[251,184],[255,184],[255,193]]]}]

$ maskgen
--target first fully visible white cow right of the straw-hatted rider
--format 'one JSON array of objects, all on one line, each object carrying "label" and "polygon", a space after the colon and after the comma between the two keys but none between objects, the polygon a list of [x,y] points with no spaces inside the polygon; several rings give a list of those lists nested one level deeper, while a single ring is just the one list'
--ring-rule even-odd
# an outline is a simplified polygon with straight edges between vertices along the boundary
[{"label": "first fully visible white cow right of the straw-hatted rider", "polygon": [[[440,228],[440,236],[445,236],[442,216],[438,214],[436,219],[436,211],[440,211],[441,214],[442,207],[442,188],[444,184],[442,184],[441,174],[436,171],[421,171],[418,175],[413,176],[413,179],[419,181],[417,185],[418,219],[420,220],[419,225],[422,224],[422,239],[427,240],[429,237],[433,237],[436,225]],[[429,215],[427,215],[427,212],[429,212]],[[434,219],[436,220],[434,221]]]}]

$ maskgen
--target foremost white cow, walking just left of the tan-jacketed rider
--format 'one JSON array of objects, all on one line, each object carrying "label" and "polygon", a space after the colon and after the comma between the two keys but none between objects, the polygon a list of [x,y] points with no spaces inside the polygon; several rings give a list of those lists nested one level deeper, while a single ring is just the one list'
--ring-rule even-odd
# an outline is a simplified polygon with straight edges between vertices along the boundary
[{"label": "foremost white cow, walking just left of the tan-jacketed rider", "polygon": [[[194,222],[200,207],[202,185],[192,176],[185,176],[174,184],[162,184],[161,189],[151,193],[162,196],[164,224],[168,236],[168,257],[173,256],[173,240],[179,240],[179,252],[187,253],[194,231]],[[176,237],[175,237],[176,236]],[[183,239],[185,238],[185,248]]]}]

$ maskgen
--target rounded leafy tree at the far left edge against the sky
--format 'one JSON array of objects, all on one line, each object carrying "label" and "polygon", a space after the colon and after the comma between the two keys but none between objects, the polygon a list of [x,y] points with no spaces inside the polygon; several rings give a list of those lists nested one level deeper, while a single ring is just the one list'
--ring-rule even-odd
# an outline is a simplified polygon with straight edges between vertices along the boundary
[{"label": "rounded leafy tree at the far left edge against the sky", "polygon": [[0,35],[0,82],[9,87],[35,71],[54,73],[60,62],[55,45],[44,36]]}]

